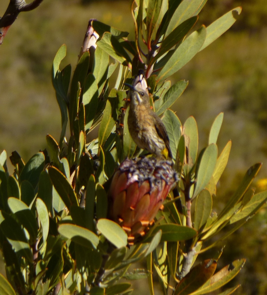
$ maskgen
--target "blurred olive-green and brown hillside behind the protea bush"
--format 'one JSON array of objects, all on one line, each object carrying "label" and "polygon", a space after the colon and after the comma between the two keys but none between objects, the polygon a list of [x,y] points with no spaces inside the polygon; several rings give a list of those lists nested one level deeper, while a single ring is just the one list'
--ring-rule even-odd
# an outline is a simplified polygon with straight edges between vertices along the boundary
[{"label": "blurred olive-green and brown hillside behind the protea bush", "polygon": [[[0,15],[8,3],[1,0]],[[129,39],[133,39],[130,3],[44,0],[37,9],[19,15],[0,46],[0,150],[6,149],[8,155],[17,150],[27,161],[46,148],[47,133],[59,139],[60,111],[51,83],[55,53],[65,43],[64,64],[74,68],[91,18],[130,32]],[[236,6],[243,11],[234,26],[172,77],[172,82],[189,80],[173,109],[182,123],[190,115],[196,118],[200,148],[207,144],[214,118],[225,114],[219,152],[230,139],[232,150],[217,188],[217,210],[254,163],[263,163],[258,179],[267,178],[266,1],[208,0],[199,23],[208,25]],[[266,219],[266,209],[262,209],[227,240],[219,267],[247,258],[234,282],[242,285],[237,294],[267,294]]]}]

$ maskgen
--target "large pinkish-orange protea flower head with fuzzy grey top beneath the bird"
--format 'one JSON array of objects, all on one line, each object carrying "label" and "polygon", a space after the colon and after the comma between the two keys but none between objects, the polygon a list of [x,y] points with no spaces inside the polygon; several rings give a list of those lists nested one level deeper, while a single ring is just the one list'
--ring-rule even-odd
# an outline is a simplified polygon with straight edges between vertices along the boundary
[{"label": "large pinkish-orange protea flower head with fuzzy grey top beneath the bird", "polygon": [[126,159],[114,174],[109,189],[110,216],[127,232],[129,244],[153,224],[178,180],[171,164],[152,157]]}]

